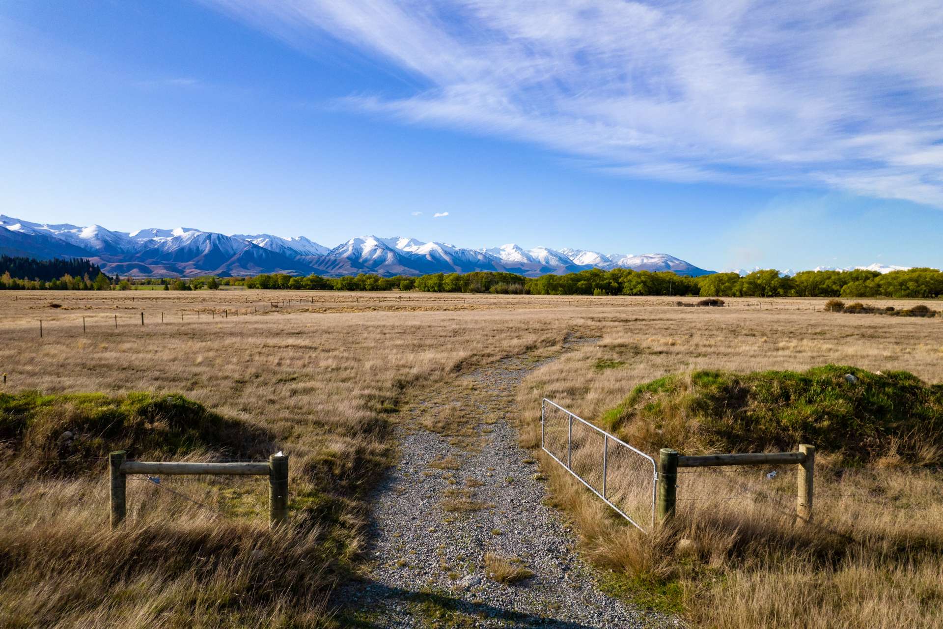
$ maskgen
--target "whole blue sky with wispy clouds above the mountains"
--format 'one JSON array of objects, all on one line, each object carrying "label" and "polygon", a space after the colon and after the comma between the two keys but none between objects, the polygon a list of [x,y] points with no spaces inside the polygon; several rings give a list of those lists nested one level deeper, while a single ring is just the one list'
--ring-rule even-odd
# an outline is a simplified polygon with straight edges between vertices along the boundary
[{"label": "whole blue sky with wispy clouds above the mountains", "polygon": [[941,32],[939,0],[7,0],[0,213],[943,267]]}]

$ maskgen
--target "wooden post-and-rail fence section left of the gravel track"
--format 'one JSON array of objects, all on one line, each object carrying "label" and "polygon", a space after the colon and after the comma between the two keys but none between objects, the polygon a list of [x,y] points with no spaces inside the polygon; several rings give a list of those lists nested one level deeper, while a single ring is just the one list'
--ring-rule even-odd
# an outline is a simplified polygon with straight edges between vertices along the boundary
[{"label": "wooden post-and-rail fence section left of the gravel track", "polygon": [[124,450],[108,456],[111,477],[111,528],[124,521],[127,474],[224,474],[269,477],[269,524],[275,527],[289,520],[289,457],[269,456],[268,463],[178,463],[169,461],[128,461]]}]

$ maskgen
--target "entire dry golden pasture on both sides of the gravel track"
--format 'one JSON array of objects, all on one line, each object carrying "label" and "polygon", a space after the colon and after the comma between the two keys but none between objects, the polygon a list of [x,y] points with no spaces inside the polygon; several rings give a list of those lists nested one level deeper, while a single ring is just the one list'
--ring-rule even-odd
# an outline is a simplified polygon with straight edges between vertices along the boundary
[{"label": "entire dry golden pasture on both sides of the gravel track", "polygon": [[[943,383],[943,319],[828,313],[818,299],[725,299],[720,308],[677,301],[697,300],[0,293],[2,392],[47,396],[28,408],[23,396],[0,407],[7,417],[28,414],[20,428],[0,424],[2,624],[337,624],[330,593],[362,562],[369,494],[396,460],[390,431],[401,421],[397,411],[423,391],[508,356],[557,358],[523,380],[517,406],[507,409],[530,447],[538,442],[541,396],[595,421],[638,385],[670,373],[831,363]],[[935,306],[881,301],[918,303]],[[565,351],[565,340],[574,338],[592,341]],[[215,441],[212,431],[172,426],[164,440],[141,446],[142,456],[289,454],[296,525],[269,532],[264,481],[179,477],[159,487],[128,483],[128,520],[122,530],[108,530],[101,455],[133,435],[99,439],[94,430],[131,425],[143,406],[126,400],[141,391],[182,394],[227,422],[226,438]],[[103,396],[67,395],[78,393]],[[188,412],[203,417],[202,410]],[[168,413],[147,421],[170,425]],[[84,430],[90,440],[79,451],[81,438],[63,441],[66,430]],[[755,490],[724,500],[732,492],[723,476],[701,489],[716,502],[683,510],[672,528],[648,537],[548,458],[540,463],[584,555],[604,570],[606,587],[629,600],[679,613],[695,626],[943,626],[943,480],[933,471],[940,453],[924,453],[922,465],[892,454],[849,476],[830,475],[840,465],[820,452],[815,528],[797,532],[789,518],[755,500]],[[857,479],[855,491],[845,491],[849,478]],[[683,500],[679,489],[679,507]],[[696,550],[678,555],[679,538],[693,539]]]}]

